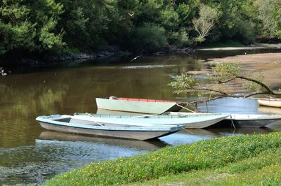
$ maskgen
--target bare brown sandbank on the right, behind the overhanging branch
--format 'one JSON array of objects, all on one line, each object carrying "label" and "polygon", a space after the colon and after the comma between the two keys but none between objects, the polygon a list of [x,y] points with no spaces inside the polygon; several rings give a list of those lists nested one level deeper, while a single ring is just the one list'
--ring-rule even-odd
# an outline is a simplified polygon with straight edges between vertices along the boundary
[{"label": "bare brown sandbank on the right, behind the overhanging branch", "polygon": [[[235,55],[222,58],[209,58],[207,62],[204,62],[200,71],[188,71],[193,75],[207,76],[211,73],[210,66],[212,63],[239,63],[240,64],[240,76],[249,78],[258,78],[263,83],[272,88],[273,91],[279,92],[281,87],[281,52],[271,53],[258,53],[248,55],[245,52],[244,55]],[[249,93],[249,89],[241,85],[246,85],[246,80],[232,80],[225,83],[223,90],[230,94],[233,93]]]}]

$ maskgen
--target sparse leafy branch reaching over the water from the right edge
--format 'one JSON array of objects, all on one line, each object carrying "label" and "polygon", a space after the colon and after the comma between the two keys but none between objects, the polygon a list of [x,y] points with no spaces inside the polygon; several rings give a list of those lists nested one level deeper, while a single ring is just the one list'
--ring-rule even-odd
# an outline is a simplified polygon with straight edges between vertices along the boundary
[{"label": "sparse leafy branch reaching over the water from the right edge", "polygon": [[[263,75],[246,77],[241,74],[241,65],[239,63],[213,63],[211,64],[211,74],[208,74],[209,84],[202,85],[198,79],[188,73],[181,73],[176,76],[169,85],[176,94],[186,92],[197,93],[199,96],[206,96],[204,101],[220,99],[223,97],[243,97],[254,96],[258,94],[281,95],[275,92],[263,83]],[[241,88],[242,94],[237,95],[237,91],[231,89],[231,83],[235,81]],[[230,85],[230,86],[229,86]],[[239,92],[239,93],[241,93]],[[195,101],[197,102],[197,101]]]}]

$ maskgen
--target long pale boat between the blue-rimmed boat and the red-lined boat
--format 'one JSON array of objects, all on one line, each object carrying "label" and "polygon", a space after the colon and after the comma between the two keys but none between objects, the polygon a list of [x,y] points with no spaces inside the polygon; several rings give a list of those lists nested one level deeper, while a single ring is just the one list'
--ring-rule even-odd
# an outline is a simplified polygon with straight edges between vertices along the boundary
[{"label": "long pale boat between the blue-rimmed boat and the red-lined boat", "polygon": [[228,117],[226,114],[193,114],[193,115],[97,115],[89,113],[74,113],[82,117],[91,117],[96,122],[135,124],[176,124],[183,125],[185,129],[203,129]]}]

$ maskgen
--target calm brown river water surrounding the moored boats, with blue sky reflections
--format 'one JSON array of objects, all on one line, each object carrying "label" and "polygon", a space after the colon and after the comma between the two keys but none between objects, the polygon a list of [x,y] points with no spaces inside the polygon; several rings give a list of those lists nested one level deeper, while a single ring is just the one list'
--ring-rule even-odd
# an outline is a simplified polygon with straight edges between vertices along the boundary
[{"label": "calm brown river water surrounding the moored boats, with blue sky reflections", "polygon": [[[8,76],[0,77],[0,185],[44,183],[57,173],[89,162],[143,154],[166,145],[280,130],[281,123],[277,122],[263,129],[190,130],[157,141],[129,141],[46,131],[34,120],[38,115],[55,113],[95,113],[95,98],[110,95],[179,101],[196,99],[173,94],[167,86],[171,77],[182,71],[206,69],[204,59],[207,57],[240,53],[244,51],[140,57],[133,62],[130,62],[133,57],[128,57],[103,62],[72,62],[57,68],[11,69]],[[198,78],[204,80],[204,77]],[[209,104],[209,111],[268,112],[259,109],[251,99],[214,101]]]}]

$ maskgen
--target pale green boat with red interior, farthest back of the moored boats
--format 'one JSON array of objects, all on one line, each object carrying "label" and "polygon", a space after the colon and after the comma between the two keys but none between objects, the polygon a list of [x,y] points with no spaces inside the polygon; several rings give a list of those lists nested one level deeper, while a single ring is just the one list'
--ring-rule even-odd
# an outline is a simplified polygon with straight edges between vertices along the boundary
[{"label": "pale green boat with red interior, farthest back of the moored boats", "polygon": [[161,114],[181,110],[186,103],[156,99],[133,99],[110,96],[108,99],[96,98],[98,108],[127,111],[132,113]]}]

